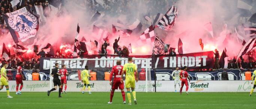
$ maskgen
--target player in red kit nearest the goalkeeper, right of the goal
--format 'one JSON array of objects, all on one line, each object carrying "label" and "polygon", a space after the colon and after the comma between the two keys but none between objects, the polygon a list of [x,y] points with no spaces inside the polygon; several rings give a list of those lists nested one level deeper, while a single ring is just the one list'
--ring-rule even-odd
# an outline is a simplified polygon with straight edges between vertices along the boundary
[{"label": "player in red kit nearest the goalkeeper, right of the goal", "polygon": [[[186,85],[185,93],[187,93],[187,90],[189,90],[189,83],[187,82],[187,78],[189,79],[189,77],[188,77],[189,74],[185,71],[185,70],[187,70],[187,66],[184,66],[183,69],[184,70],[180,73],[180,78],[182,79],[182,81],[181,81],[181,88],[180,88],[180,95],[181,95],[181,91],[182,91],[182,88],[183,88],[184,84]],[[189,82],[190,82],[190,79],[189,79]],[[189,93],[187,93],[187,94],[189,94]]]}]

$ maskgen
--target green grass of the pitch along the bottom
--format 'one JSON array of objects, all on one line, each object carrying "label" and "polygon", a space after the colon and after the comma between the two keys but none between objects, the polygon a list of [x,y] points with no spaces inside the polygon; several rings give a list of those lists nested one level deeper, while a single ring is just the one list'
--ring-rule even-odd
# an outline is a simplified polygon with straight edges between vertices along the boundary
[{"label": "green grass of the pitch along the bottom", "polygon": [[[112,104],[110,92],[67,92],[58,98],[57,92],[47,96],[46,92],[22,92],[15,95],[11,92],[7,98],[6,92],[0,92],[0,106],[6,109],[250,109],[256,106],[255,93],[249,97],[248,93],[136,93],[138,104],[123,105],[120,92],[114,93]],[[131,93],[132,96],[132,93]]]}]

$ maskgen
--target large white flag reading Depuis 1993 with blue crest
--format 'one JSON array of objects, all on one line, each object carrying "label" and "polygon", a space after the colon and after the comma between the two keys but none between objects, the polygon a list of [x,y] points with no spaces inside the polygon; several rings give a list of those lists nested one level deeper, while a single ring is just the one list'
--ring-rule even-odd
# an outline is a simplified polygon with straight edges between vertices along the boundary
[{"label": "large white flag reading Depuis 1993 with blue crest", "polygon": [[39,28],[38,17],[31,13],[28,7],[3,14],[3,18],[15,43],[36,36]]}]

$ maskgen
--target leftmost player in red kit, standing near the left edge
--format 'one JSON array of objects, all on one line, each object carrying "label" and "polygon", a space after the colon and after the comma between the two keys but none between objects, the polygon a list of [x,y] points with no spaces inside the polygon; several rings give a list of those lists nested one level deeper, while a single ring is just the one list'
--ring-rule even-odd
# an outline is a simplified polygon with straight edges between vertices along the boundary
[{"label": "leftmost player in red kit, standing near the left edge", "polygon": [[[17,68],[17,73],[16,73],[16,77],[15,77],[15,79],[16,79],[16,95],[21,95],[21,89],[22,89],[22,87],[23,87],[23,81],[22,81],[22,79],[25,79],[23,76],[24,75],[22,75],[22,67],[21,66],[23,66],[23,62],[19,62],[19,67]],[[21,87],[19,88],[19,84],[21,84]],[[18,89],[19,89],[19,91],[18,91]]]}]

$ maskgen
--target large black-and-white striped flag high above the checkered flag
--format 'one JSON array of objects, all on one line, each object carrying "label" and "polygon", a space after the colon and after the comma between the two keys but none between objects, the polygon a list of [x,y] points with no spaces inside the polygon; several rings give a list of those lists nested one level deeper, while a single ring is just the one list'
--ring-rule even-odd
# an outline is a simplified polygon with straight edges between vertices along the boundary
[{"label": "large black-and-white striped flag high above the checkered flag", "polygon": [[174,27],[177,16],[178,9],[172,5],[171,9],[168,10],[168,12],[163,16],[156,26],[162,30],[168,31]]}]

